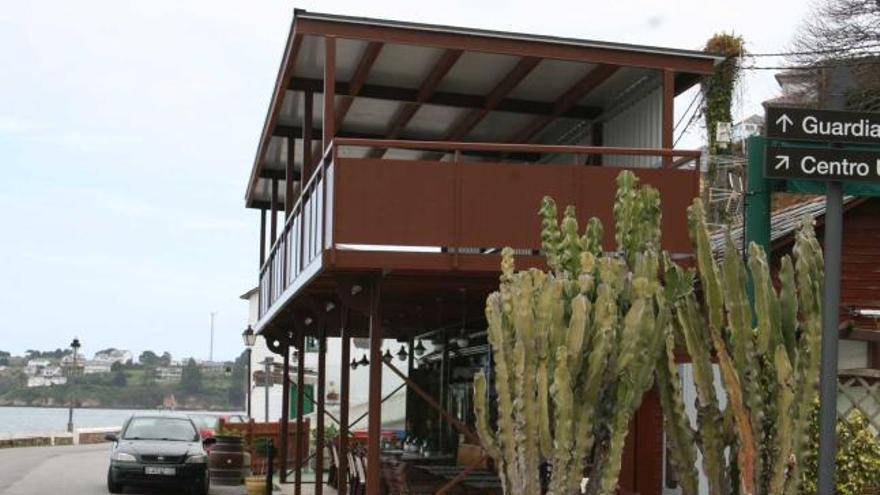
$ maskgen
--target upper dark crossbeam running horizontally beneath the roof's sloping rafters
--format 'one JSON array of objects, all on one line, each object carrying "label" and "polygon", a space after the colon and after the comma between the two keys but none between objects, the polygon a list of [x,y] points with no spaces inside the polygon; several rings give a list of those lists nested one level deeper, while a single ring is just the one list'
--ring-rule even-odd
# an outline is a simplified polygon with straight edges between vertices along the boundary
[{"label": "upper dark crossbeam running horizontally beneath the roof's sloping rafters", "polygon": [[[295,77],[287,86],[289,91],[312,91],[320,93],[324,84],[320,79]],[[416,103],[419,91],[411,88],[397,86],[385,86],[381,84],[364,84],[357,92],[357,97],[373,98],[376,100],[388,100],[402,103]],[[352,83],[345,81],[336,82],[337,95],[351,95]],[[487,99],[483,95],[465,93],[453,93],[448,91],[435,91],[427,101],[422,103],[467,109],[486,109]],[[340,105],[341,106],[341,105]],[[523,113],[532,115],[545,115],[553,111],[553,104],[543,101],[522,100],[518,98],[502,98],[493,108],[499,112]],[[574,119],[596,118],[602,109],[599,107],[576,105],[562,114],[562,117]]]}]

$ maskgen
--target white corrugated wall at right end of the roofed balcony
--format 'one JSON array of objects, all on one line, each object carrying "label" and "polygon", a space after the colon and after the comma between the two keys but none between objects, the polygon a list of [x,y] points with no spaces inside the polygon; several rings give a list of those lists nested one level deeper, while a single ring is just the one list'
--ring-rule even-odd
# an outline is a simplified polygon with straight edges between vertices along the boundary
[{"label": "white corrugated wall at right end of the roofed balcony", "polygon": [[[663,91],[656,88],[602,126],[602,145],[624,148],[660,148],[663,143]],[[660,157],[605,155],[603,165],[657,167]]]}]

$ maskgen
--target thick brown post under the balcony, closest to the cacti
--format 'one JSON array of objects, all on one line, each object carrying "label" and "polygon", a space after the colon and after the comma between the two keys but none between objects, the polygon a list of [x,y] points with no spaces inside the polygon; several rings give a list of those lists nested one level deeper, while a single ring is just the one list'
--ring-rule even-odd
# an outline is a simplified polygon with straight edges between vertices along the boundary
[{"label": "thick brown post under the balcony, closest to the cacti", "polygon": [[367,410],[367,493],[379,495],[379,440],[382,435],[382,315],[379,312],[381,285],[370,288],[370,392]]}]

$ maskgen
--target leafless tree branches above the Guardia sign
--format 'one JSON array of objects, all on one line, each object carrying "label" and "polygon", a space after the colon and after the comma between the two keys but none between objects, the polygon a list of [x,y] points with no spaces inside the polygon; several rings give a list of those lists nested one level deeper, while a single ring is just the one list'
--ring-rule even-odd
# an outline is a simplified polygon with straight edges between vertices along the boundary
[{"label": "leafless tree branches above the Guardia sign", "polygon": [[820,0],[798,29],[789,64],[814,67],[820,97],[827,70],[852,69],[857,89],[848,106],[880,110],[880,0]]}]

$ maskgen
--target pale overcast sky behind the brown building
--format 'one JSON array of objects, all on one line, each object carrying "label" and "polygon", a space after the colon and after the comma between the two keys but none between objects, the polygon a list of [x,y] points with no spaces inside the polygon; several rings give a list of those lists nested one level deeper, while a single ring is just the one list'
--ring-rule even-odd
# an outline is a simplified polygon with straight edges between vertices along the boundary
[{"label": "pale overcast sky behind the brown building", "polygon": [[[241,351],[255,285],[253,162],[293,8],[698,49],[785,49],[803,1],[4,2],[0,350]],[[779,60],[760,61],[762,65]],[[735,118],[773,96],[744,81]],[[686,106],[688,95],[677,102]],[[681,145],[699,144],[699,133]]]}]

